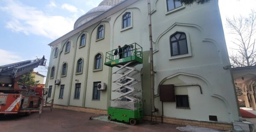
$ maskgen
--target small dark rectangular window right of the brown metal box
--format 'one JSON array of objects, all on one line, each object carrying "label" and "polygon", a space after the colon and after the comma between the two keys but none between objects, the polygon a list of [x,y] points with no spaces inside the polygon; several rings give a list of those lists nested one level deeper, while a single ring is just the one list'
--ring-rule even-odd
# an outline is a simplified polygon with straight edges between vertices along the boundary
[{"label": "small dark rectangular window right of the brown metal box", "polygon": [[176,108],[189,108],[189,96],[188,95],[176,95]]}]

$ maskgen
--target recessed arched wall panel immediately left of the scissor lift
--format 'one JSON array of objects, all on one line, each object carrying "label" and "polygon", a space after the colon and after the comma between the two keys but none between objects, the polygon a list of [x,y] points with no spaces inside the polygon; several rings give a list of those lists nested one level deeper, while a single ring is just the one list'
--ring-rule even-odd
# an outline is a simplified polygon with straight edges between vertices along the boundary
[{"label": "recessed arched wall panel immediately left of the scissor lift", "polygon": [[[104,25],[104,39],[96,41],[97,35],[97,28],[100,25]],[[93,29],[91,34],[91,47],[90,47],[90,58],[89,58],[89,67],[88,67],[88,80],[87,80],[87,90],[85,95],[85,107],[89,108],[99,108],[99,109],[107,109],[107,96],[109,94],[107,91],[101,91],[100,93],[100,100],[93,100],[93,82],[103,82],[107,84],[107,89],[110,88],[108,84],[109,80],[109,67],[104,65],[105,62],[105,55],[106,52],[109,51],[109,41],[110,41],[110,34],[111,31],[110,25],[108,22],[101,22],[99,23],[96,28]],[[102,70],[100,71],[93,71],[94,67],[94,58],[97,53],[102,53],[101,59],[103,60],[102,63]]]}]

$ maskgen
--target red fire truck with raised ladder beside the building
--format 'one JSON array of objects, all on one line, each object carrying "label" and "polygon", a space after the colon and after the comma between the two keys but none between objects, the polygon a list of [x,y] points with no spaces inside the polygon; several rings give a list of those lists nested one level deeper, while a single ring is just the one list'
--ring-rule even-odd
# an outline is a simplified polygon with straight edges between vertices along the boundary
[{"label": "red fire truck with raised ladder beside the building", "polygon": [[39,111],[44,88],[19,85],[17,81],[35,67],[45,66],[45,62],[37,59],[0,66],[0,114]]}]

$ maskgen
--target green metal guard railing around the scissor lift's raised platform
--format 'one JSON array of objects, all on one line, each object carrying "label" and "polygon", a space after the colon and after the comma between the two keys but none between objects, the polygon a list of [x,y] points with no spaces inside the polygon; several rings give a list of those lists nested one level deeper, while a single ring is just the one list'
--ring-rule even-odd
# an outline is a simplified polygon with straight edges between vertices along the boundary
[{"label": "green metal guard railing around the scissor lift's raised platform", "polygon": [[[122,52],[118,53],[118,49],[113,49],[112,51],[109,51],[106,53],[106,58],[105,58],[105,62],[110,62],[112,60],[118,60],[119,58],[119,54],[121,54],[122,58],[125,57],[131,57],[133,55],[142,58],[142,47],[139,46],[139,44],[137,43],[133,43],[130,45],[125,45],[122,48]],[[117,54],[114,54],[115,51],[117,51]]]}]

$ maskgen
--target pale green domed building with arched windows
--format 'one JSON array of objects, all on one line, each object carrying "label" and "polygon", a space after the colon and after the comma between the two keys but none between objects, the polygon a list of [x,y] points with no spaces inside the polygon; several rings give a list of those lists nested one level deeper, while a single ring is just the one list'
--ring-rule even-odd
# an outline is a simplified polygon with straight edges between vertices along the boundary
[{"label": "pale green domed building with arched windows", "polygon": [[[156,116],[239,121],[218,0],[190,6],[173,0],[150,2]],[[106,113],[115,96],[111,88],[116,87],[115,67],[104,65],[106,52],[137,43],[143,48],[143,64],[136,66],[141,70],[136,86],[143,91],[144,115],[151,115],[147,7],[147,0],[103,0],[77,19],[74,30],[49,44],[46,87],[56,107]],[[106,91],[97,90],[100,82],[107,84]],[[170,84],[175,86],[176,102],[161,102],[159,88]]]}]

